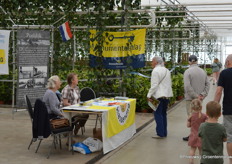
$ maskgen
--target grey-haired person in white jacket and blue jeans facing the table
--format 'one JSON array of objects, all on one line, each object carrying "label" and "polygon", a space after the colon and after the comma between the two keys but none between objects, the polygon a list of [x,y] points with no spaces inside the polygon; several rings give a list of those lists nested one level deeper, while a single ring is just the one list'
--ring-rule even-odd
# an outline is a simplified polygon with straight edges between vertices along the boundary
[{"label": "grey-haired person in white jacket and blue jeans facing the table", "polygon": [[169,97],[173,96],[170,71],[164,67],[163,59],[156,56],[152,59],[151,66],[151,88],[148,91],[147,99],[152,102],[152,97],[160,101],[154,118],[156,121],[156,133],[153,138],[161,139],[167,137],[167,108]]}]

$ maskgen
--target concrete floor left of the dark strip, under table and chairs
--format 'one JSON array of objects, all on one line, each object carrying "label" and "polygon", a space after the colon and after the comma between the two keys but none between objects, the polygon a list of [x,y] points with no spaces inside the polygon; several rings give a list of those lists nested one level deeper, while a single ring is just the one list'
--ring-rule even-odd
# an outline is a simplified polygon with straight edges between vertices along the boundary
[{"label": "concrete floor left of the dark strip, under table and chairs", "polygon": [[[96,116],[90,115],[86,123],[84,135],[74,137],[76,142],[81,142],[87,137],[92,137],[92,129],[95,125]],[[136,113],[136,128],[141,127],[153,118],[152,113]],[[64,164],[64,163],[87,163],[91,159],[102,154],[95,152],[83,155],[75,152],[72,155],[65,145],[66,139],[62,140],[62,149],[52,149],[50,159],[47,159],[49,146],[52,138],[49,137],[41,142],[38,153],[35,153],[38,141],[27,149],[32,137],[31,121],[27,111],[15,112],[12,115],[11,108],[0,108],[0,164]]]}]

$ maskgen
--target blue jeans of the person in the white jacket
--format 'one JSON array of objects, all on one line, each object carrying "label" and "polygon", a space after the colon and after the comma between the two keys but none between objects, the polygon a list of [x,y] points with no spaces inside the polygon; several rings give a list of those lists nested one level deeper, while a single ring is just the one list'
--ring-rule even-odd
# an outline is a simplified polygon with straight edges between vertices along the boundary
[{"label": "blue jeans of the person in the white jacket", "polygon": [[156,121],[156,133],[160,137],[167,136],[167,108],[169,100],[165,98],[159,98],[159,106],[154,112],[154,119]]}]

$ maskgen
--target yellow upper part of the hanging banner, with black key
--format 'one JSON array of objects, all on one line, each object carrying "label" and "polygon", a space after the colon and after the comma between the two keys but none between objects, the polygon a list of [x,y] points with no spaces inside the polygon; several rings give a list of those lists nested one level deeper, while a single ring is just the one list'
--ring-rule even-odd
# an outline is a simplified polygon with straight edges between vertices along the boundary
[{"label": "yellow upper part of the hanging banner, with black key", "polygon": [[[90,30],[90,54],[96,56],[96,30]],[[125,32],[104,32],[103,57],[128,57],[145,53],[146,29]]]}]

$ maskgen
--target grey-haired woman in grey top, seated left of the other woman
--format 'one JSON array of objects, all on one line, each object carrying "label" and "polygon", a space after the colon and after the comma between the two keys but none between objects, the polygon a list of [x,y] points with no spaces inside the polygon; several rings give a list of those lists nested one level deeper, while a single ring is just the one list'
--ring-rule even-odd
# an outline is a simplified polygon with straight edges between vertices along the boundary
[{"label": "grey-haired woman in grey top, seated left of the other woman", "polygon": [[56,91],[60,88],[61,82],[58,76],[52,76],[48,79],[47,91],[43,96],[43,102],[48,110],[50,119],[63,117],[63,113],[59,109],[60,101],[56,95]]}]

